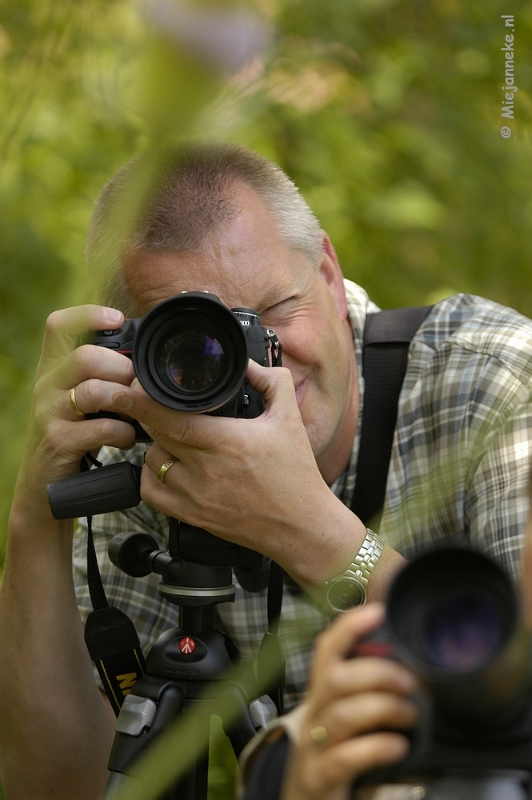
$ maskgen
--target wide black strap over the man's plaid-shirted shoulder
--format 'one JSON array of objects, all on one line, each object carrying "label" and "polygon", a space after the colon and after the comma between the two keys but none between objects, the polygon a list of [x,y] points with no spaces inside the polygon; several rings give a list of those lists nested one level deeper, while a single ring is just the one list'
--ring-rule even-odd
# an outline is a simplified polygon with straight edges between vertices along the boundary
[{"label": "wide black strap over the man's plaid-shirted shoulder", "polygon": [[366,318],[362,356],[364,407],[351,508],[364,524],[371,521],[377,529],[408,348],[432,308],[393,308],[368,314]]}]

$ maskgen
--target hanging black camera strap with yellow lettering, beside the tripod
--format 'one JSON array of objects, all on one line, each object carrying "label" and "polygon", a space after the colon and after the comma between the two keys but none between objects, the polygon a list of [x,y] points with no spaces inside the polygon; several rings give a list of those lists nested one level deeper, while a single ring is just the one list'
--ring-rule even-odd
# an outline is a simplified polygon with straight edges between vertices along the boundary
[{"label": "hanging black camera strap with yellow lettering, beside the tripod", "polygon": [[[82,471],[89,468],[87,459],[102,466],[87,454],[81,461]],[[107,600],[92,536],[92,517],[87,517],[87,583],[93,611],[85,623],[85,644],[118,716],[125,696],[144,674],[144,655],[133,622]]]}]

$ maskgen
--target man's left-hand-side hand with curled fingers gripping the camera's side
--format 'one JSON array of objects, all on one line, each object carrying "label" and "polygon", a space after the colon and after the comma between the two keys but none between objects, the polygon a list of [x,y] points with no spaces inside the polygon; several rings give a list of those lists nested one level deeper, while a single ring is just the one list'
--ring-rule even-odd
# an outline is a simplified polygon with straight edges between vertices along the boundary
[{"label": "man's left-hand-side hand with curled fingers gripping the camera's side", "polygon": [[76,403],[84,414],[115,410],[112,394],[134,378],[131,361],[106,348],[77,347],[77,343],[82,334],[117,328],[122,322],[121,312],[93,305],[56,311],[48,318],[15,507],[19,498],[24,505],[31,501],[46,517],[47,484],[78,472],[84,453],[97,452],[104,444],[121,448],[134,444],[127,422],[87,420],[70,402],[70,390],[75,388]]}]

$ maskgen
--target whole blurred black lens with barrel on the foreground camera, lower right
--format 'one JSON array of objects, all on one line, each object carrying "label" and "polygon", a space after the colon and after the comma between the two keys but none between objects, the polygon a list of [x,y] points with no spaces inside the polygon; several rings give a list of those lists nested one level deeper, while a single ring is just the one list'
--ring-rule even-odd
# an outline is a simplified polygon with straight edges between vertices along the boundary
[{"label": "whole blurred black lens with barrel on the foreground camera, lower right", "polygon": [[510,729],[528,706],[530,638],[509,575],[468,548],[427,551],[394,579],[387,629],[429,691],[438,724],[465,735]]}]

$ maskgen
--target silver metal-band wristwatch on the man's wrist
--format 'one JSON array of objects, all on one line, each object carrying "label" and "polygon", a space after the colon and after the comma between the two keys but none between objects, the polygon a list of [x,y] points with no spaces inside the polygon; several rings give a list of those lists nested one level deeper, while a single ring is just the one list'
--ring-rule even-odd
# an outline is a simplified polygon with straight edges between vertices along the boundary
[{"label": "silver metal-band wristwatch on the man's wrist", "polygon": [[353,606],[362,606],[368,596],[368,581],[384,548],[384,539],[367,529],[362,547],[342,575],[325,583],[324,614],[341,614]]}]

